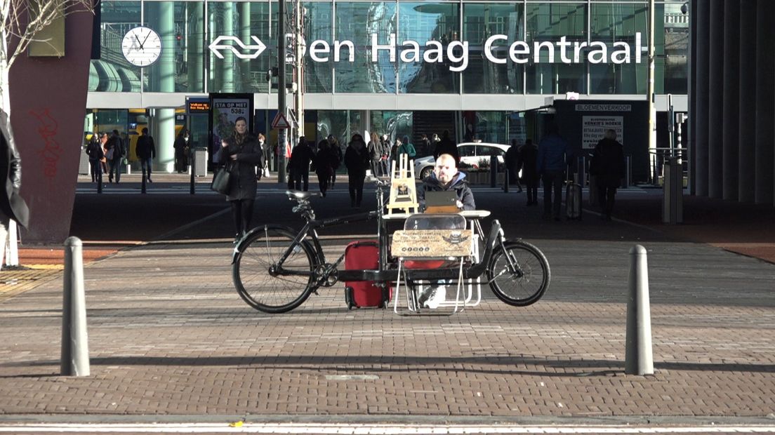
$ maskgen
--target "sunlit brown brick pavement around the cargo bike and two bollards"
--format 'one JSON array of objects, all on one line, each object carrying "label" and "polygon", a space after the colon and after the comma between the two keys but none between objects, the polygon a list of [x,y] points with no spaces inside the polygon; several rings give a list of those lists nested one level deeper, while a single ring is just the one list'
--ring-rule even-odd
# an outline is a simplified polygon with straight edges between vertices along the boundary
[{"label": "sunlit brown brick pavement around the cargo bike and two bollards", "polygon": [[[57,375],[60,281],[0,302],[0,413],[773,417],[775,265],[670,228],[518,218],[509,231],[552,264],[549,292],[453,317],[348,311],[339,286],[263,314],[233,289],[225,241],[124,248],[85,269],[91,376]],[[633,241],[649,249],[646,377],[623,368]]]}]

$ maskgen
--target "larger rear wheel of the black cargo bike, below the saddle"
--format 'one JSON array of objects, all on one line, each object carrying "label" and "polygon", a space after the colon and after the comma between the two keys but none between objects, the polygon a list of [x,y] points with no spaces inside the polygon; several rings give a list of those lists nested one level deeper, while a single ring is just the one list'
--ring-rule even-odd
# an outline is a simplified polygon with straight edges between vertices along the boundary
[{"label": "larger rear wheel of the black cargo bike, below the saddle", "polygon": [[[285,313],[304,303],[314,290],[314,255],[306,243],[283,228],[265,226],[240,245],[232,277],[239,296],[264,313]],[[280,264],[283,255],[287,258]]]}]

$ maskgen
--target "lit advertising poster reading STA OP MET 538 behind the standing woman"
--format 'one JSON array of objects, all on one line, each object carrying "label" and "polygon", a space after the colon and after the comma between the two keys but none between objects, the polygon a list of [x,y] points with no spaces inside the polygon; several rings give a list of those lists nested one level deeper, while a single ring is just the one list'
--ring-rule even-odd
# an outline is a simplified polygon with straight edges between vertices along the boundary
[{"label": "lit advertising poster reading STA OP MET 538 behind the standing woman", "polygon": [[221,149],[221,140],[234,134],[237,118],[247,120],[248,128],[253,125],[252,94],[210,94],[210,156],[212,163],[219,163],[215,152]]}]

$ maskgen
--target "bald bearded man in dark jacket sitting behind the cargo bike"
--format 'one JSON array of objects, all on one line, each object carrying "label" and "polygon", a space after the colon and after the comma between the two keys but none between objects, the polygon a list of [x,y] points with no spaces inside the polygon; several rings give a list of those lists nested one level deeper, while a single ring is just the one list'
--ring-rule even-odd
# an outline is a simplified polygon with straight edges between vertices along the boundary
[{"label": "bald bearded man in dark jacket sitting behind the cargo bike", "polygon": [[[421,209],[425,209],[425,192],[429,190],[454,190],[457,196],[457,208],[475,210],[474,193],[468,187],[466,174],[457,170],[455,158],[450,154],[442,154],[436,159],[433,173],[422,180],[422,189],[417,193]],[[445,281],[439,281],[435,286],[426,286],[418,297],[418,303],[425,308],[438,308],[446,300]]]}]

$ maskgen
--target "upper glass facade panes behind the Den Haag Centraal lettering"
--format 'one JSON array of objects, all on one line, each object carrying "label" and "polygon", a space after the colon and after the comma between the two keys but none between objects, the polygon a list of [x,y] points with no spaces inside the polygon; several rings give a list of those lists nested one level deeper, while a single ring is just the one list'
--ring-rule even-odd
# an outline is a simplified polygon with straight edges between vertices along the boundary
[{"label": "upper glass facade panes behind the Den Haag Centraal lettering", "polygon": [[[656,5],[656,92],[686,92],[687,19],[682,2]],[[545,0],[512,2],[303,2],[301,60],[305,93],[342,94],[645,94],[648,2]],[[277,66],[277,2],[105,0],[102,59],[91,65],[91,91],[274,93],[267,71]],[[288,2],[287,27],[293,26]],[[126,62],[121,39],[134,26],[160,34],[157,63]],[[289,31],[290,32],[290,31]],[[487,51],[487,40],[502,35]],[[209,48],[218,36],[220,48]],[[557,42],[563,38],[563,48]],[[247,57],[253,39],[266,46]],[[239,39],[239,41],[236,41]],[[509,58],[509,44],[529,54]],[[626,62],[594,63],[627,43]],[[463,60],[463,45],[467,56]],[[372,44],[378,48],[373,50]],[[581,48],[576,46],[580,44]],[[593,44],[592,46],[590,44]],[[234,46],[232,50],[229,47]],[[536,48],[539,47],[539,48]],[[313,60],[312,52],[315,52]],[[376,51],[377,53],[372,53]],[[243,53],[240,57],[236,53]],[[505,62],[494,62],[487,54]],[[292,53],[288,60],[294,61]],[[574,57],[578,59],[572,59]],[[391,59],[392,57],[392,59]],[[571,60],[567,62],[565,60]],[[274,79],[276,80],[276,79]],[[294,68],[288,68],[288,80]]]}]

